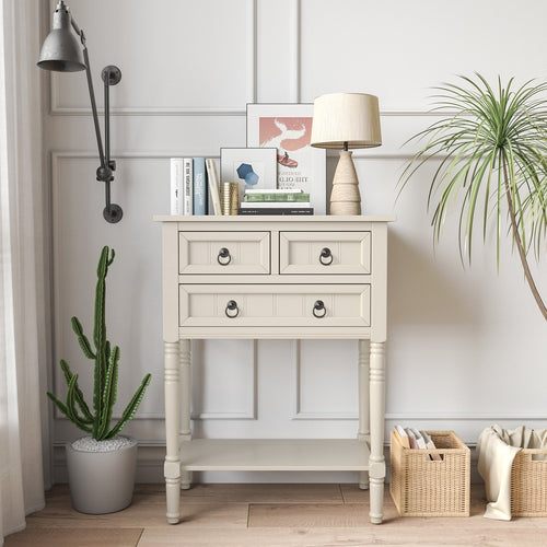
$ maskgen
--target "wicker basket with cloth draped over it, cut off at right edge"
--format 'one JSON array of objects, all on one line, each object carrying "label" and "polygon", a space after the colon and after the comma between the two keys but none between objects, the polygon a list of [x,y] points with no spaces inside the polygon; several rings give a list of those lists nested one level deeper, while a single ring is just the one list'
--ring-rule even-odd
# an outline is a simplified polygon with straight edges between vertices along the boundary
[{"label": "wicker basket with cloth draped over it, cut off at right edge", "polygon": [[547,516],[547,449],[523,449],[513,459],[511,515]]}]

